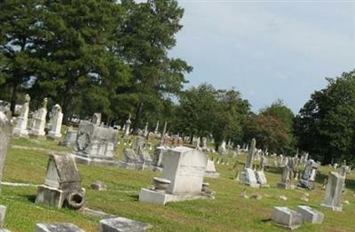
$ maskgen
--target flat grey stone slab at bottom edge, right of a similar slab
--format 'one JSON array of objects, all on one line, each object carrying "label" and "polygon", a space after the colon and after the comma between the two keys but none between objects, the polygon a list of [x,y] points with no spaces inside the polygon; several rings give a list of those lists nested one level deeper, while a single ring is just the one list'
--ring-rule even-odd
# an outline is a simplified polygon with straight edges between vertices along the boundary
[{"label": "flat grey stone slab at bottom edge, right of a similar slab", "polygon": [[99,232],[134,232],[146,231],[152,226],[137,220],[112,218],[99,221]]}]

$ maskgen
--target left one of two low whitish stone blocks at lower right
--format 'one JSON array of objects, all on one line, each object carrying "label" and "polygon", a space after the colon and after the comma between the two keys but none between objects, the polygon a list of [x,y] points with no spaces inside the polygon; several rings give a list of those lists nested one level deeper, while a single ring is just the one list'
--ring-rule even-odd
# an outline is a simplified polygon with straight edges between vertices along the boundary
[{"label": "left one of two low whitish stone blocks at lower right", "polygon": [[302,225],[302,215],[288,209],[288,207],[274,206],[272,220],[282,227],[291,229],[299,228]]}]

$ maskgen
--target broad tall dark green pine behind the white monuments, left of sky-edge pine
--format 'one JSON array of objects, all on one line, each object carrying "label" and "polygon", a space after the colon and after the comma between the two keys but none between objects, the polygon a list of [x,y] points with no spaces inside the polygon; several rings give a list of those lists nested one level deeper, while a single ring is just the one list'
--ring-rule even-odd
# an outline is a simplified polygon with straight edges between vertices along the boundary
[{"label": "broad tall dark green pine behind the white monuments, left of sky-edge pine", "polygon": [[36,63],[33,90],[61,102],[64,122],[73,110],[73,99],[83,91],[93,90],[84,99],[99,101],[100,110],[109,114],[110,105],[102,93],[113,92],[129,78],[128,66],[108,49],[120,27],[120,15],[121,7],[114,1],[43,4],[39,25],[43,36],[34,42],[41,62]]}]

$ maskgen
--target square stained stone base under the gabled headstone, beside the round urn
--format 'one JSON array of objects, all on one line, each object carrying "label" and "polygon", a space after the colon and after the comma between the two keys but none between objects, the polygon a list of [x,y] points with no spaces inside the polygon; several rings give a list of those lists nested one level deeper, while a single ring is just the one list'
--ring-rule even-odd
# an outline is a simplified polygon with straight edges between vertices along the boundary
[{"label": "square stained stone base under the gabled headstone, beside the round urn", "polygon": [[64,204],[64,193],[60,189],[51,188],[44,184],[38,186],[35,204],[46,204],[51,207],[61,208]]}]

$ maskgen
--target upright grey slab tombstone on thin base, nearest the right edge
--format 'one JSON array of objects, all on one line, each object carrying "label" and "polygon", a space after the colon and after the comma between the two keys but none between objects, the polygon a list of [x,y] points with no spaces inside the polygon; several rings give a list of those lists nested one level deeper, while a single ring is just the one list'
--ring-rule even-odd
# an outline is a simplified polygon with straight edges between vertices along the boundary
[{"label": "upright grey slab tombstone on thin base, nearest the right edge", "polygon": [[330,172],[327,176],[326,197],[322,206],[331,208],[334,211],[342,211],[342,191],[343,191],[342,175]]}]

